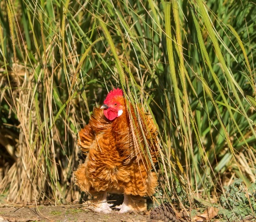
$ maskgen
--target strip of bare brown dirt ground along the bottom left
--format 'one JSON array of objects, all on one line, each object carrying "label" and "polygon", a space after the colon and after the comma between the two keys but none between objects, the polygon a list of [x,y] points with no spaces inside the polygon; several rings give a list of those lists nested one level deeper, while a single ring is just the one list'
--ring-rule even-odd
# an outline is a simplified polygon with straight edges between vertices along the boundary
[{"label": "strip of bare brown dirt ground along the bottom left", "polygon": [[146,222],[149,213],[95,213],[77,206],[0,207],[0,222],[16,221],[123,221]]}]

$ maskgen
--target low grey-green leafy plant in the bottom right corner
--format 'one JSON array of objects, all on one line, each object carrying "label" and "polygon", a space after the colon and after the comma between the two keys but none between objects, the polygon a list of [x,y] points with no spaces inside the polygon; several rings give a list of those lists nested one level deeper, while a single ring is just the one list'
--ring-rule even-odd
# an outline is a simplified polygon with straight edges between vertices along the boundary
[{"label": "low grey-green leafy plant in the bottom right corner", "polygon": [[256,212],[256,182],[247,189],[243,180],[234,179],[234,182],[224,187],[225,192],[220,197],[223,208],[218,212],[226,221],[245,220],[246,216],[255,216]]}]

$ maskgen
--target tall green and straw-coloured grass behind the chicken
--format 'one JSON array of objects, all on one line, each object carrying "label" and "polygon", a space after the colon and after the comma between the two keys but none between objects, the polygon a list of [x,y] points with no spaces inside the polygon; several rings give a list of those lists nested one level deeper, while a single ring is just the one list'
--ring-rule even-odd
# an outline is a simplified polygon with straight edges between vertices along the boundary
[{"label": "tall green and straw-coloured grass behind the chicken", "polygon": [[217,201],[255,181],[252,1],[0,2],[0,193],[79,200],[77,132],[113,87],[154,115],[156,199]]}]

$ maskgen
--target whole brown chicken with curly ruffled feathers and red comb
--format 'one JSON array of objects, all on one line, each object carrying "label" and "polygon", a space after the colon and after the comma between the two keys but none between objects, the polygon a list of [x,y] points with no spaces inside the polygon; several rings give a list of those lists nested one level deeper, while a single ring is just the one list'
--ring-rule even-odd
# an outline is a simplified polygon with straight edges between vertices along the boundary
[{"label": "whole brown chicken with curly ruffled feathers and red comb", "polygon": [[121,213],[146,210],[143,196],[155,192],[157,178],[151,169],[157,156],[157,132],[150,116],[136,109],[127,106],[121,89],[113,89],[79,132],[78,143],[87,156],[75,172],[76,183],[96,195],[96,212],[112,211],[106,202],[108,192],[124,194]]}]

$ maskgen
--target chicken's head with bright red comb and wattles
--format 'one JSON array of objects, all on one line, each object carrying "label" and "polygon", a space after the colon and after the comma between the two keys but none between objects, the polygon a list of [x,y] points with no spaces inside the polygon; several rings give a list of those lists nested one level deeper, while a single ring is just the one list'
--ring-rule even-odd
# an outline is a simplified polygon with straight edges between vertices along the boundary
[{"label": "chicken's head with bright red comb and wattles", "polygon": [[101,108],[104,109],[104,115],[108,120],[114,120],[118,116],[121,116],[125,108],[123,90],[117,88],[110,91]]}]

